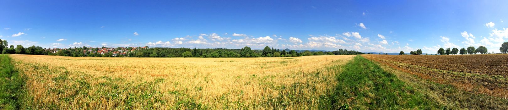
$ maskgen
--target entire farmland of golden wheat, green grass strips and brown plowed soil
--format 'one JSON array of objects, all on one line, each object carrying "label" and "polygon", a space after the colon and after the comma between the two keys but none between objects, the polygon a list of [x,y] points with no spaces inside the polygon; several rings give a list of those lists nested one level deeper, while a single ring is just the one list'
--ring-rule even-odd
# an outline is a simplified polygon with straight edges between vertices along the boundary
[{"label": "entire farmland of golden wheat, green grass strips and brown plowed soil", "polygon": [[[502,57],[506,56],[91,58],[0,54],[0,108],[504,109],[508,108],[503,93],[506,79],[499,71],[506,65],[482,71],[468,68],[494,64],[468,65],[461,60]],[[445,59],[450,63],[436,63]],[[462,65],[452,65],[458,63]]]}]

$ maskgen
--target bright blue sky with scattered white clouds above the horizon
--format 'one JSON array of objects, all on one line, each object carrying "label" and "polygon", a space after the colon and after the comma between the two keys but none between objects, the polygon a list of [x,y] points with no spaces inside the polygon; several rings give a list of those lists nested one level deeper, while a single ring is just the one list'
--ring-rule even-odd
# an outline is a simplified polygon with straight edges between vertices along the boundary
[{"label": "bright blue sky with scattered white clouds above the horizon", "polygon": [[0,39],[66,48],[399,52],[508,41],[508,1],[0,1]]}]

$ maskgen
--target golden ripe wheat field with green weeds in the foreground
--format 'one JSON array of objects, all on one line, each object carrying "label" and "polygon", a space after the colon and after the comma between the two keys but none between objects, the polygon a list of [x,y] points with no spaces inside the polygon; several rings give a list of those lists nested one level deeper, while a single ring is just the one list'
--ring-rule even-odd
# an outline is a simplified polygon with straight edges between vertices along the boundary
[{"label": "golden ripe wheat field with green weeds in the foreground", "polygon": [[72,58],[11,54],[34,109],[309,109],[354,56]]}]

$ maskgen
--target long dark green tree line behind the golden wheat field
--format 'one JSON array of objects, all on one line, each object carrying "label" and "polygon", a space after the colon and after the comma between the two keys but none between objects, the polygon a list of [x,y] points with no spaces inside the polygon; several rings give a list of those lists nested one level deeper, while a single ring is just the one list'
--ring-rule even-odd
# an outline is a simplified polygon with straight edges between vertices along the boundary
[{"label": "long dark green tree line behind the golden wheat field", "polygon": [[[42,48],[40,46],[30,46],[24,48],[22,45],[11,45],[7,47],[8,42],[0,39],[0,50],[4,54],[39,54],[50,56],[69,56],[69,57],[197,57],[197,58],[255,58],[255,57],[300,57],[300,56],[321,56],[321,55],[346,55],[346,54],[364,54],[355,50],[339,49],[336,51],[300,51],[289,49],[274,49],[266,46],[263,50],[253,50],[248,46],[241,49],[228,48],[140,48],[117,47],[114,51],[125,48],[128,51],[124,55],[114,54],[112,51],[106,53],[97,53],[102,48],[74,47],[74,48]],[[139,48],[139,47],[138,47]],[[88,51],[91,50],[91,51]]]}]

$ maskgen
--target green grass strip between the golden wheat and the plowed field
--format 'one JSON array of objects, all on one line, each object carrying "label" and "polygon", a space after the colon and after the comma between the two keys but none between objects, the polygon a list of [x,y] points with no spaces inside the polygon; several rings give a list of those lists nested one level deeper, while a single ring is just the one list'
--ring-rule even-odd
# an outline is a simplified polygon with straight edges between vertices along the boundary
[{"label": "green grass strip between the golden wheat and the plowed field", "polygon": [[327,107],[322,109],[443,108],[397,75],[361,56],[344,65],[336,78],[335,89],[321,97],[320,106]]}]

